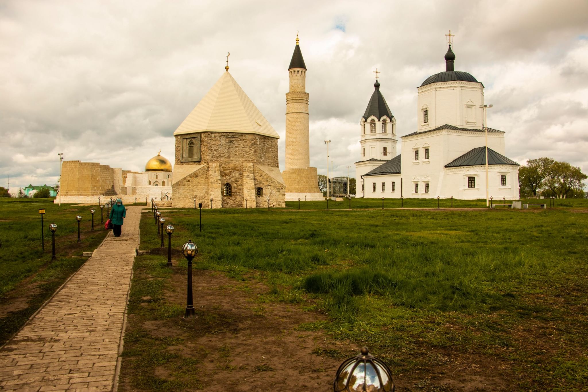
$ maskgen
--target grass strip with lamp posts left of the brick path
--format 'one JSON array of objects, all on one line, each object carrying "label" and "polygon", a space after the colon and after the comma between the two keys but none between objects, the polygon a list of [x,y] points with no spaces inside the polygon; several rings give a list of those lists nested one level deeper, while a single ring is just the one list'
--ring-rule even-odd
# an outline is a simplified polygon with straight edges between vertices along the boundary
[{"label": "grass strip with lamp posts left of the brick path", "polygon": [[[0,199],[0,345],[4,344],[56,289],[87,259],[82,253],[96,249],[106,235],[96,209],[91,232],[90,206],[53,203],[53,199]],[[45,252],[41,246],[41,216],[45,209]],[[78,243],[76,215],[82,216]],[[106,220],[106,211],[104,212]],[[57,260],[51,262],[51,232]]]}]

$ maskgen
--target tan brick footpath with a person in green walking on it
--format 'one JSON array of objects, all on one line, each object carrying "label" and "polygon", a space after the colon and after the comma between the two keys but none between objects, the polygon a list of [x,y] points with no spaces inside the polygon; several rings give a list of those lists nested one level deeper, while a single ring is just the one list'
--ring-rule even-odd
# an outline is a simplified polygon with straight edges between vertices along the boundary
[{"label": "tan brick footpath with a person in green walking on it", "polygon": [[115,386],[141,207],[0,351],[2,391],[111,391]]}]

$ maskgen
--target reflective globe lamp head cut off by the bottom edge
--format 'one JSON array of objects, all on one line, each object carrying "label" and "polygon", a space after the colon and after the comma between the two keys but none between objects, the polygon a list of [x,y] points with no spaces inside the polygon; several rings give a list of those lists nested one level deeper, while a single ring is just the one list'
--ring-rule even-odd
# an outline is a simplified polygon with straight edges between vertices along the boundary
[{"label": "reflective globe lamp head cut off by the bottom edge", "polygon": [[333,382],[333,391],[394,392],[392,372],[363,347],[357,356],[343,361]]}]

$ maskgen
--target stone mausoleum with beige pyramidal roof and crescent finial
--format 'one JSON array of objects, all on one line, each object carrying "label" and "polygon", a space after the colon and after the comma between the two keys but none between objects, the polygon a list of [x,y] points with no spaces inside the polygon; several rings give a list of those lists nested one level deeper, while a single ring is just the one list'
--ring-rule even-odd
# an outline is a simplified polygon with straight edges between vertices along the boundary
[{"label": "stone mausoleum with beige pyramidal roof and crescent finial", "polygon": [[284,207],[279,135],[225,69],[173,132],[172,205]]}]

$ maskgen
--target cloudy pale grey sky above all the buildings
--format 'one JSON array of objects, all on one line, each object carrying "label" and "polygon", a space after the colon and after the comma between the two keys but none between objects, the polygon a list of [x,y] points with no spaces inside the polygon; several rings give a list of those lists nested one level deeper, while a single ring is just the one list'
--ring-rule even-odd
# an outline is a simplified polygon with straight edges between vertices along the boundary
[{"label": "cloudy pale grey sky above all the buildings", "polygon": [[[0,0],[0,186],[56,183],[66,160],[142,170],[224,72],[285,146],[288,65],[300,31],[310,163],[359,160],[373,71],[400,136],[416,88],[445,70],[485,85],[492,128],[517,162],[550,156],[588,173],[588,2]],[[399,146],[401,148],[401,146]]]}]

